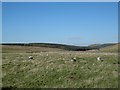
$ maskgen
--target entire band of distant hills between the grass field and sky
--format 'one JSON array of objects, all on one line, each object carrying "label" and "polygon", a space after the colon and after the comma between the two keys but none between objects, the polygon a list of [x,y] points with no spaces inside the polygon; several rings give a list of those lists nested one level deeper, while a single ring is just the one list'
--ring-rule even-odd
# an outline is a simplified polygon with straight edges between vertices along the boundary
[{"label": "entire band of distant hills between the grass field and sky", "polygon": [[93,44],[90,46],[73,46],[54,43],[4,43],[3,52],[40,52],[40,51],[87,51],[87,50],[100,50],[104,52],[117,52],[117,44]]}]

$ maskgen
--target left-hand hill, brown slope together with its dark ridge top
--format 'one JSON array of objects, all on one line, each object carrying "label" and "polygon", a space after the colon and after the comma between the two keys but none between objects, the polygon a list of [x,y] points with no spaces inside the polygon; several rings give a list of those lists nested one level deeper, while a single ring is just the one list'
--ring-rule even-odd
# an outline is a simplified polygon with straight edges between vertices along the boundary
[{"label": "left-hand hill, brown slope together with its dark ridge top", "polygon": [[20,52],[40,52],[40,51],[87,51],[92,50],[91,47],[87,46],[73,46],[64,44],[53,44],[53,43],[10,43],[2,44],[2,51],[20,51]]}]

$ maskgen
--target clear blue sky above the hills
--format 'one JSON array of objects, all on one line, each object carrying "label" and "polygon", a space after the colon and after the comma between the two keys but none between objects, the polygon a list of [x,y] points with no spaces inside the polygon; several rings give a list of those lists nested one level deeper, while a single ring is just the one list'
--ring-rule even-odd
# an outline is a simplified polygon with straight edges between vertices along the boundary
[{"label": "clear blue sky above the hills", "polygon": [[118,42],[117,2],[2,3],[2,42]]}]

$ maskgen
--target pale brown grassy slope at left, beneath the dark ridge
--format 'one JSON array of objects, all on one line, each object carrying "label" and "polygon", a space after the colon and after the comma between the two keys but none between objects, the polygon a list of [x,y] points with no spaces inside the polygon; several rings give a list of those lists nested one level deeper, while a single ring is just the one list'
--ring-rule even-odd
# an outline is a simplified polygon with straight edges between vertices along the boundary
[{"label": "pale brown grassy slope at left, beneath the dark ridge", "polygon": [[2,45],[3,53],[39,53],[39,52],[49,52],[49,51],[64,51],[59,48],[49,48],[49,47],[36,47],[36,46],[9,46]]}]

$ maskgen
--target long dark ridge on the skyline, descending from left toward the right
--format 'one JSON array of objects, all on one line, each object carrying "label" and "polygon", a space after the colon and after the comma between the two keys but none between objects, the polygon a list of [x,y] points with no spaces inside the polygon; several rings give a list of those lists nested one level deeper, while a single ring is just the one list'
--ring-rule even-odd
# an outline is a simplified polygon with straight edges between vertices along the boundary
[{"label": "long dark ridge on the skyline, descending from left toward the right", "polygon": [[52,43],[11,43],[11,44],[2,44],[9,46],[33,46],[33,47],[46,47],[46,48],[59,48],[68,51],[86,51],[92,50],[91,47],[87,46],[73,46],[73,45],[64,45],[64,44],[52,44]]}]

